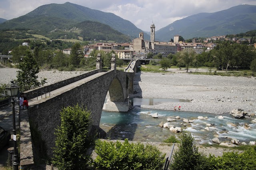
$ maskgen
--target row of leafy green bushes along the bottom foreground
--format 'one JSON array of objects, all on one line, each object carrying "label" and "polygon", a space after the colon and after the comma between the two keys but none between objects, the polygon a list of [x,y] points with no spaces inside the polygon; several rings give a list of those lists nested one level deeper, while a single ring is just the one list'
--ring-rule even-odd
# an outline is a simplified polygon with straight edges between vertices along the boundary
[{"label": "row of leafy green bushes along the bottom foreground", "polygon": [[[56,129],[56,147],[52,162],[59,170],[72,169],[134,169],[158,170],[164,166],[165,154],[150,144],[106,142],[93,140],[88,134],[90,111],[75,105],[62,109],[61,125]],[[171,138],[171,137],[170,137]],[[89,147],[95,147],[93,160]],[[242,153],[226,152],[223,156],[206,156],[198,147],[190,132],[183,131],[178,150],[173,154],[170,168],[173,170],[255,170],[256,146]]]}]

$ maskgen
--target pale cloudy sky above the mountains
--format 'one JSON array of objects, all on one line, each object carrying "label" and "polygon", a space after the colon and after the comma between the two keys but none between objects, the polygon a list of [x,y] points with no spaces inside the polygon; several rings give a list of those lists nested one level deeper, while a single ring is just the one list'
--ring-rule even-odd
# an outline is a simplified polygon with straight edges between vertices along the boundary
[{"label": "pale cloudy sky above the mountains", "polygon": [[148,32],[152,22],[157,31],[201,12],[218,12],[242,4],[256,5],[256,0],[0,0],[0,18],[10,20],[44,4],[65,2],[114,13]]}]

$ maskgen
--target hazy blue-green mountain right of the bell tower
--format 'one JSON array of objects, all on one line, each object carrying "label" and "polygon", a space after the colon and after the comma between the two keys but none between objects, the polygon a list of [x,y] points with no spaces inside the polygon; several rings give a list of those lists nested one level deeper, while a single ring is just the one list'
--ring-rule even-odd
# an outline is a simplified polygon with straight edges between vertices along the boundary
[{"label": "hazy blue-green mountain right of the bell tower", "polygon": [[239,5],[214,13],[199,13],[177,20],[156,31],[156,38],[169,41],[175,35],[184,39],[238,34],[256,28],[256,6]]}]

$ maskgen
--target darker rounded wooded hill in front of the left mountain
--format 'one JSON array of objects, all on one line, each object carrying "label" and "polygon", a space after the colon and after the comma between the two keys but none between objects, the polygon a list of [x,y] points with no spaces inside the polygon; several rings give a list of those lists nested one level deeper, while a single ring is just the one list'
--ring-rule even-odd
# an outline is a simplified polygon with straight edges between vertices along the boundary
[{"label": "darker rounded wooded hill in front of the left mountain", "polygon": [[126,36],[106,24],[101,24],[94,21],[84,21],[76,24],[76,28],[79,28],[81,32],[79,35],[84,38],[84,40],[112,40],[115,42],[131,42],[131,38]]}]

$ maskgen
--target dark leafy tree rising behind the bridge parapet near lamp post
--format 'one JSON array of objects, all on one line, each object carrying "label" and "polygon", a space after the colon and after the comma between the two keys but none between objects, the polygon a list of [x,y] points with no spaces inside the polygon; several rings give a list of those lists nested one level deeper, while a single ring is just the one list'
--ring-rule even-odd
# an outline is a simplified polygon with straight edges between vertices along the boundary
[{"label": "dark leafy tree rising behind the bridge parapet near lamp post", "polygon": [[18,74],[15,81],[20,86],[20,91],[28,91],[46,83],[46,78],[42,79],[41,82],[38,81],[38,76],[36,75],[39,73],[38,63],[29,50],[26,51],[26,55],[19,64],[19,69],[21,71],[17,71]]}]

